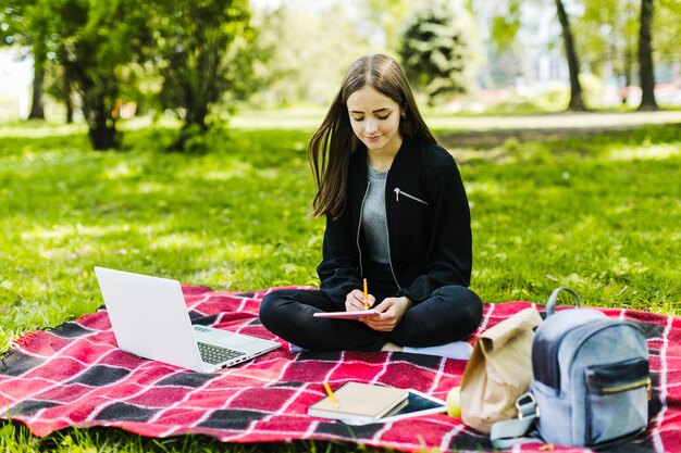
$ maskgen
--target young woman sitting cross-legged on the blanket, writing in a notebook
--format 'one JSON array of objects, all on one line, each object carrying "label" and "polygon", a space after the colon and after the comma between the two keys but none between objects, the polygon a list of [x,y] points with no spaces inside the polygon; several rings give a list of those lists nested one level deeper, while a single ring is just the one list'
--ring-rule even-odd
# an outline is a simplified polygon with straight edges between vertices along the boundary
[{"label": "young woman sitting cross-legged on the blanket, writing in a notebook", "polygon": [[[280,290],[262,324],[311,351],[406,351],[470,355],[482,302],[468,285],[471,228],[457,165],[423,122],[403,70],[364,55],[308,146],[314,215],[326,217],[319,290]],[[359,320],[315,312],[364,309]]]}]

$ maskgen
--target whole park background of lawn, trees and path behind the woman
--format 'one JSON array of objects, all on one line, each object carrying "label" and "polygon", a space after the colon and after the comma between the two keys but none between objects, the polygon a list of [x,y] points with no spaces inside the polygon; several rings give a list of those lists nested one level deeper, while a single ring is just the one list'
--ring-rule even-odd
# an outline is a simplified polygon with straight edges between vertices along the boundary
[{"label": "whole park background of lawn, trees and path behind the woman", "polygon": [[[317,285],[306,146],[358,55],[405,66],[471,204],[471,288],[678,314],[681,3],[0,0],[0,343],[91,313],[103,265]],[[114,430],[7,451],[348,451]],[[233,449],[233,450],[232,450]],[[361,450],[361,449],[360,449]]]}]

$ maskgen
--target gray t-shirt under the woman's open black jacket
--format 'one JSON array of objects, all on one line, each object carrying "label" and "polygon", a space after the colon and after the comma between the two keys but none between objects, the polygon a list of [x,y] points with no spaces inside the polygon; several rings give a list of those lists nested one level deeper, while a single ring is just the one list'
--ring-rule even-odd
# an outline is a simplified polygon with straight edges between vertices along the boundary
[{"label": "gray t-shirt under the woman's open black jacket", "polygon": [[369,192],[362,205],[362,229],[367,238],[369,259],[377,263],[389,263],[387,224],[385,222],[385,179],[387,171],[376,172],[367,165]]}]

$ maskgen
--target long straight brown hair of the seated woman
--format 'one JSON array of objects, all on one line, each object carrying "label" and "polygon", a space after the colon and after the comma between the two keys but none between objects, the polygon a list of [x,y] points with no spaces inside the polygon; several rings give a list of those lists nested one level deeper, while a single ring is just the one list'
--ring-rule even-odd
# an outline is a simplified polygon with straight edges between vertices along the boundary
[{"label": "long straight brown hair of the seated woman", "polygon": [[345,209],[350,156],[361,144],[350,125],[347,100],[366,86],[375,88],[401,108],[405,113],[399,122],[403,138],[420,138],[436,143],[419,113],[399,64],[393,58],[380,53],[360,56],[348,67],[322,125],[308,143],[308,160],[317,183],[317,194],[312,200],[314,216],[330,215],[336,218]]}]

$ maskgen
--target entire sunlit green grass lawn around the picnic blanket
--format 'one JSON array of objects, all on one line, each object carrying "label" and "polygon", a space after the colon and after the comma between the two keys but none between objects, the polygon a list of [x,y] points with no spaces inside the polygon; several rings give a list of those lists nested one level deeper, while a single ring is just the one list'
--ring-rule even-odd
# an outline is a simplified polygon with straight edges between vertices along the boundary
[{"label": "entire sunlit green grass lawn around the picnic blanket", "polygon": [[[238,123],[213,152],[169,154],[173,130],[129,128],[95,152],[82,126],[0,129],[0,348],[102,304],[92,266],[214,289],[317,285],[323,221],[308,215],[309,118]],[[471,203],[472,289],[487,302],[544,302],[560,285],[587,305],[680,314],[681,127],[652,125],[454,153]],[[72,430],[41,441],[0,425],[0,449],[347,451],[326,443],[224,445]],[[357,448],[358,451],[368,449]]]}]

